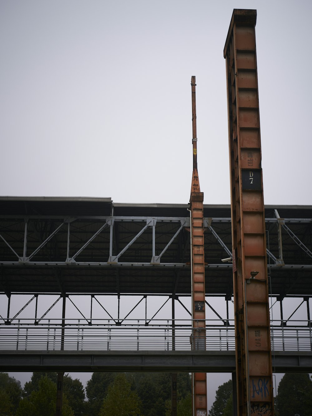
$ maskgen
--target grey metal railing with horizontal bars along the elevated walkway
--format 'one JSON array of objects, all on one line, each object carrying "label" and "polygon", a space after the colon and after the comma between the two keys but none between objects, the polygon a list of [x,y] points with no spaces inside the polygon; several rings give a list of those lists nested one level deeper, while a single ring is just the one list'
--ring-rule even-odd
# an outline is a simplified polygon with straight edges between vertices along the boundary
[{"label": "grey metal railing with horizontal bars along the elevated walkway", "polygon": [[[312,351],[311,321],[272,321],[275,351]],[[47,351],[233,351],[234,321],[206,320],[6,320],[0,324],[0,350]]]}]

